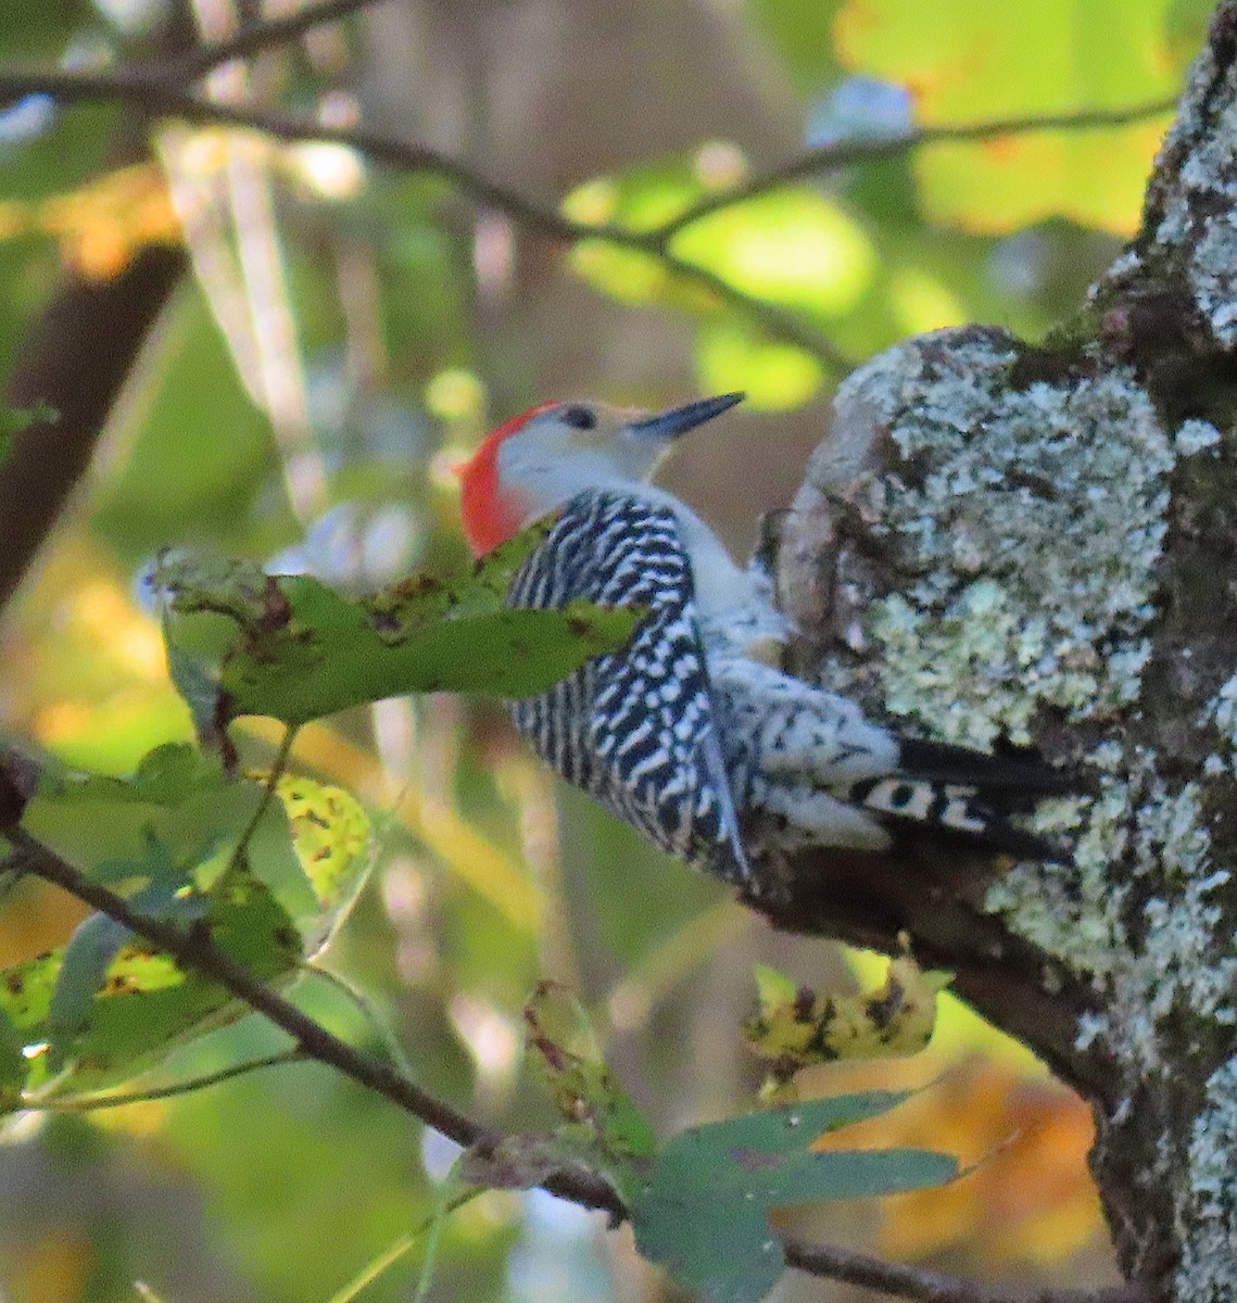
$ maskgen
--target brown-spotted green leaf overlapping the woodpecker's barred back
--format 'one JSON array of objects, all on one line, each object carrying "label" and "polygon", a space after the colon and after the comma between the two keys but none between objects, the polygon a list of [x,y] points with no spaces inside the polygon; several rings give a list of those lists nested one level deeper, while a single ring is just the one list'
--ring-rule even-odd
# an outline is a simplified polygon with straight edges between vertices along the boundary
[{"label": "brown-spotted green leaf overlapping the woodpecker's barred back", "polygon": [[[411,692],[531,696],[622,646],[639,611],[502,605],[517,559],[541,537],[538,526],[527,530],[463,580],[408,580],[360,602],[309,576],[263,575],[239,560],[164,563],[155,582],[176,615],[223,615],[235,625],[219,655],[212,718],[300,724]],[[175,619],[168,636],[173,646],[180,641]],[[192,691],[201,696],[197,684]],[[201,702],[196,710],[201,715]]]}]

